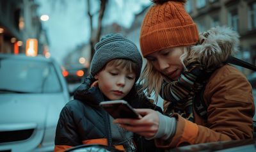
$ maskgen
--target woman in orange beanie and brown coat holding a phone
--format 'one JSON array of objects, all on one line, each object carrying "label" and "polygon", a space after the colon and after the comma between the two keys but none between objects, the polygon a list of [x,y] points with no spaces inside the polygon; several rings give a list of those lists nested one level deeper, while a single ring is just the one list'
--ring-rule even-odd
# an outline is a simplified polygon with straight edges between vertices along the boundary
[{"label": "woman in orange beanie and brown coat holding a phone", "polygon": [[147,59],[141,82],[148,95],[164,98],[170,117],[137,109],[142,119],[114,123],[156,139],[160,148],[252,138],[252,87],[243,73],[225,64],[237,51],[238,34],[227,27],[198,34],[186,1],[154,3],[141,26],[140,47]]}]

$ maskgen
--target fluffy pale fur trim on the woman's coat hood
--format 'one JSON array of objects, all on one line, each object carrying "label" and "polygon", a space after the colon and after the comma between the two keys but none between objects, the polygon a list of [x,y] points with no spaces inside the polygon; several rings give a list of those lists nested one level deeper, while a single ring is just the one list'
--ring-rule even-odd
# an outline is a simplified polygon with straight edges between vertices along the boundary
[{"label": "fluffy pale fur trim on the woman's coat hood", "polygon": [[230,27],[218,26],[200,33],[199,41],[188,52],[188,64],[197,61],[206,69],[218,68],[238,52],[239,34]]}]

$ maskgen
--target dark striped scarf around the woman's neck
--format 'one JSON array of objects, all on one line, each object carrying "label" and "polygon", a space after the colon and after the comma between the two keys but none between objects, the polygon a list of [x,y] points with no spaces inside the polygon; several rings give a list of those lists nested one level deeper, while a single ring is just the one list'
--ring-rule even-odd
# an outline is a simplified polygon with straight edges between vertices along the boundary
[{"label": "dark striped scarf around the woman's neck", "polygon": [[170,102],[166,114],[171,116],[178,113],[183,118],[194,122],[193,98],[205,86],[205,80],[210,72],[205,72],[204,67],[197,63],[188,66],[178,80],[164,80],[161,88],[161,97]]}]

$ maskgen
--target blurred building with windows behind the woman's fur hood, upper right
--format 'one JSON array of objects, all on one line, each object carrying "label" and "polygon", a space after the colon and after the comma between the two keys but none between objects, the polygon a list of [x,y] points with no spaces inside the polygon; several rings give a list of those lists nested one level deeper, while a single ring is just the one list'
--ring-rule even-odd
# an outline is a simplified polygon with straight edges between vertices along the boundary
[{"label": "blurred building with windows behind the woman's fur hood, upper right", "polygon": [[[240,34],[237,57],[256,65],[255,0],[188,0],[186,10],[200,32],[216,26],[232,27]],[[251,73],[247,69],[240,70],[246,75]]]}]

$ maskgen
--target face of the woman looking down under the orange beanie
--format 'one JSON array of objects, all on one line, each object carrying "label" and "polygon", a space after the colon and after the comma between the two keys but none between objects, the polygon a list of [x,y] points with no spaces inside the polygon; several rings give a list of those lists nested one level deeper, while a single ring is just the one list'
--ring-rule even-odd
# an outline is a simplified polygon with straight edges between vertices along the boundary
[{"label": "face of the woman looking down under the orange beanie", "polygon": [[146,59],[152,63],[157,71],[172,80],[177,80],[184,68],[180,61],[180,56],[183,53],[184,47],[172,47],[148,54]]}]

